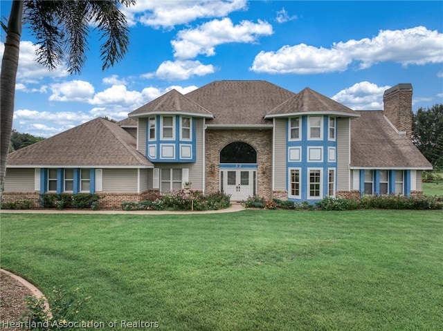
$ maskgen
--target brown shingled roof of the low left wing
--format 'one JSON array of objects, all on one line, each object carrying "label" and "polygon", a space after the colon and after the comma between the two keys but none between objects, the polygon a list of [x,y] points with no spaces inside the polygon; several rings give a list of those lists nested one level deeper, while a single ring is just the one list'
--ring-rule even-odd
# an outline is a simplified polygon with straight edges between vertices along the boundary
[{"label": "brown shingled roof of the low left wing", "polygon": [[8,156],[8,167],[55,166],[154,167],[136,151],[136,138],[100,117]]}]

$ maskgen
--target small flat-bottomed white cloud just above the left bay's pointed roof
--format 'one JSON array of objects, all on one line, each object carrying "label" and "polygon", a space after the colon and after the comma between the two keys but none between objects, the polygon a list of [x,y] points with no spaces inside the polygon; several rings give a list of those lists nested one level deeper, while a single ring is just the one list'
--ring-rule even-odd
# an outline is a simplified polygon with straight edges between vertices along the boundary
[{"label": "small flat-bottomed white cloud just above the left bay's pointed roof", "polygon": [[199,61],[177,60],[165,61],[155,73],[148,73],[142,77],[151,78],[157,77],[165,80],[183,80],[193,76],[204,76],[210,73],[215,73],[215,67],[212,64],[201,64]]}]

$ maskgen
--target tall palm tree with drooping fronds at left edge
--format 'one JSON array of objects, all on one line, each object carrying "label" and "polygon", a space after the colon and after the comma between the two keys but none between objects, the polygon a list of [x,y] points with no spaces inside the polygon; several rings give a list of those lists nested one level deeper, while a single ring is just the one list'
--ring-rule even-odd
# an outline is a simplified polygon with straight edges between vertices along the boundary
[{"label": "tall palm tree with drooping fronds at left edge", "polygon": [[105,70],[123,58],[129,44],[125,15],[118,6],[135,0],[15,0],[12,1],[0,74],[0,202],[3,196],[6,163],[14,115],[15,80],[19,66],[22,24],[37,40],[37,62],[49,69],[66,63],[69,73],[80,73],[86,59],[90,26],[101,34],[100,57]]}]

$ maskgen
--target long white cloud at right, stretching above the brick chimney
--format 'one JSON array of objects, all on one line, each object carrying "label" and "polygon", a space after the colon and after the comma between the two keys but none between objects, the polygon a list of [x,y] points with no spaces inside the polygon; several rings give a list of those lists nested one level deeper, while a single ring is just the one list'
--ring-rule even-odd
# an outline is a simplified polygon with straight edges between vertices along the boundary
[{"label": "long white cloud at right, stretching above the brick chimney", "polygon": [[276,52],[260,52],[251,70],[257,73],[331,73],[347,70],[356,62],[360,69],[379,62],[403,66],[443,62],[443,34],[417,26],[404,30],[380,30],[375,37],[334,43],[331,48],[299,44]]}]

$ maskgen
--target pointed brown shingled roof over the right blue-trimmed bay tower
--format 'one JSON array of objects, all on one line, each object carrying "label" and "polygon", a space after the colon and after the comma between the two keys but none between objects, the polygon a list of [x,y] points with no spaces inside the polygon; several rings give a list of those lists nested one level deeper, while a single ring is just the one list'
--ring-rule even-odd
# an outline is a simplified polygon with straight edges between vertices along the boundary
[{"label": "pointed brown shingled roof over the right blue-trimmed bay tower", "polygon": [[325,113],[330,115],[345,115],[351,117],[358,117],[359,114],[343,104],[325,97],[320,93],[311,90],[311,88],[304,88],[300,93],[297,93],[291,99],[283,102],[279,106],[273,108],[266,114],[265,118],[296,115],[300,113],[318,114]]}]

